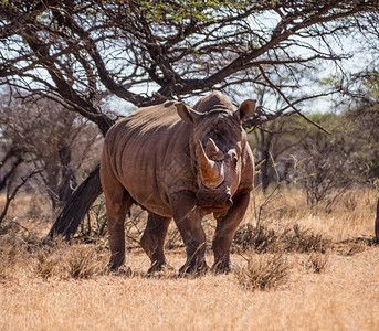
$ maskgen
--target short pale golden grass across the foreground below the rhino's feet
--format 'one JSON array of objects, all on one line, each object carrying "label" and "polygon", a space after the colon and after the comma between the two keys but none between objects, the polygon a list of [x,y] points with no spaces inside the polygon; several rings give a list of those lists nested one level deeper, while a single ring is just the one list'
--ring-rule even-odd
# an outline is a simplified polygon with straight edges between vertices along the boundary
[{"label": "short pale golden grass across the foreground below the rhino's feet", "polygon": [[[178,254],[168,258],[176,268],[182,261]],[[377,330],[378,258],[375,248],[359,258],[333,255],[323,274],[304,270],[295,258],[286,284],[267,291],[245,290],[235,274],[196,279],[21,277],[1,285],[0,329]],[[128,260],[134,270],[146,267],[138,252]]]}]

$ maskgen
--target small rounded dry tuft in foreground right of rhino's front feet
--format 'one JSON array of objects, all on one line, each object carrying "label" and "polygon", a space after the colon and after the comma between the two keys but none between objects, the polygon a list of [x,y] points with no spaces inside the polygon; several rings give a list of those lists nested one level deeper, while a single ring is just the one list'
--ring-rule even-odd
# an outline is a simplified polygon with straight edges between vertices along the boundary
[{"label": "small rounded dry tuft in foreground right of rhino's front feet", "polygon": [[236,271],[239,282],[251,290],[265,290],[284,284],[291,265],[283,255],[256,255],[248,259],[248,265]]}]

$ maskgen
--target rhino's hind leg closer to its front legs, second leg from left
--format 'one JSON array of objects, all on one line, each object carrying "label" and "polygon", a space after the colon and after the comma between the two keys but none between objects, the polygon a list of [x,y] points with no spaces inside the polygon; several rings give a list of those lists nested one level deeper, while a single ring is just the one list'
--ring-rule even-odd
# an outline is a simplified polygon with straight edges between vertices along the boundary
[{"label": "rhino's hind leg closer to its front legs, second leg from left", "polygon": [[151,260],[148,274],[161,271],[167,266],[164,244],[171,218],[149,212],[140,245]]}]

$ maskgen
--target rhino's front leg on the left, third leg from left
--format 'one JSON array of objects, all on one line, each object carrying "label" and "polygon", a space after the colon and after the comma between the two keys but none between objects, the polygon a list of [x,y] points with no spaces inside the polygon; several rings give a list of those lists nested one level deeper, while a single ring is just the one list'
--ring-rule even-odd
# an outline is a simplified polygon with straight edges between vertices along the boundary
[{"label": "rhino's front leg on the left, third leg from left", "polygon": [[208,270],[206,263],[206,234],[201,226],[201,211],[196,206],[196,196],[182,191],[170,196],[175,223],[186,245],[187,260],[180,274],[202,274]]}]

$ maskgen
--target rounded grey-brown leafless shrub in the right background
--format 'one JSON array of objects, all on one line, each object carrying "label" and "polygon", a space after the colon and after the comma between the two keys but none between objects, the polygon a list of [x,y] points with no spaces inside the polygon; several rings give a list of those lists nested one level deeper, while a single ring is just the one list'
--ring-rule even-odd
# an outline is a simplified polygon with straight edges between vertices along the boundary
[{"label": "rounded grey-brown leafless shrub in the right background", "polygon": [[337,129],[341,116],[326,114],[318,117],[325,125],[327,122],[331,137],[310,128],[297,146],[295,172],[308,205],[314,209],[324,203],[325,210],[330,211],[336,199],[355,183],[357,172],[354,149]]}]

